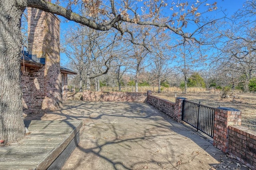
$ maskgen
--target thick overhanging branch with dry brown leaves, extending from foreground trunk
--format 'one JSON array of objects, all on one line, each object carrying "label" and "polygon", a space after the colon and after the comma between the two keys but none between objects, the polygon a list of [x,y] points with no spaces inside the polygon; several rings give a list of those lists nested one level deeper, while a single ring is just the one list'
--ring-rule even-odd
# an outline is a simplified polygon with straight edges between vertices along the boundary
[{"label": "thick overhanging branch with dry brown leaves, extending from foreground trunk", "polygon": [[[119,21],[124,21],[127,23],[133,23],[133,24],[138,24],[138,25],[148,25],[148,26],[154,26],[154,27],[158,27],[158,28],[164,28],[164,29],[168,29],[171,32],[174,32],[175,34],[177,34],[178,36],[181,36],[183,38],[187,38],[187,39],[191,39],[191,40],[195,40],[196,42],[203,44],[205,42],[201,42],[200,40],[198,40],[197,38],[194,37],[194,34],[200,32],[199,30],[202,30],[202,28],[204,28],[205,26],[212,24],[212,22],[216,22],[219,19],[215,19],[215,20],[210,20],[208,22],[204,22],[203,25],[198,26],[198,29],[194,30],[194,32],[192,32],[192,34],[188,34],[186,32],[184,32],[183,27],[187,27],[187,20],[189,20],[189,18],[191,18],[191,16],[194,17],[194,20],[197,19],[198,16],[200,16],[200,12],[197,12],[197,8],[193,7],[192,4],[192,9],[193,10],[187,10],[187,13],[182,12],[182,14],[180,14],[180,16],[176,16],[178,14],[178,10],[183,10],[184,5],[186,6],[186,4],[184,3],[178,3],[177,6],[177,11],[178,12],[173,12],[173,17],[175,16],[176,19],[173,20],[172,18],[169,18],[170,20],[166,20],[163,21],[161,19],[161,17],[157,18],[158,20],[162,20],[160,22],[156,22],[156,16],[160,16],[159,12],[160,12],[160,7],[164,7],[166,5],[163,5],[162,2],[160,2],[160,5],[158,6],[157,9],[154,9],[154,12],[152,13],[152,16],[144,16],[146,18],[148,18],[149,20],[144,20],[142,19],[143,17],[138,17],[138,14],[136,13],[136,10],[132,9],[129,4],[126,4],[127,2],[125,2],[124,4],[126,4],[123,8],[126,9],[121,9],[121,7],[116,7],[114,0],[110,0],[110,11],[106,12],[106,14],[113,14],[113,17],[110,17],[108,15],[108,17],[110,18],[110,21],[107,22],[106,24],[98,24],[97,22],[95,22],[92,19],[89,19],[87,17],[84,16],[80,16],[79,14],[76,14],[75,12],[72,12],[72,10],[66,9],[62,6],[56,5],[56,4],[52,4],[51,2],[46,2],[45,0],[27,0],[27,6],[28,7],[32,7],[32,8],[37,8],[46,12],[50,12],[53,14],[57,14],[60,16],[63,16],[64,18],[83,24],[85,26],[88,26],[89,28],[92,28],[94,30],[101,30],[101,31],[106,31],[106,30],[110,30],[111,28],[115,28],[118,31],[121,32],[121,34],[124,34],[124,32],[128,32],[125,31],[127,29],[122,28],[121,23]],[[84,3],[88,3],[88,2],[84,2]],[[158,3],[158,1],[154,2],[154,3]],[[203,2],[200,2],[200,4],[202,4]],[[95,4],[94,4],[95,5]],[[188,5],[188,4],[187,4]],[[212,6],[215,6],[216,4],[212,4]],[[152,5],[150,5],[152,6]],[[199,5],[198,5],[199,6]],[[120,14],[117,14],[117,10],[116,8],[120,8]],[[138,8],[138,7],[136,7]],[[151,7],[150,7],[151,8]],[[153,8],[152,8],[153,9]],[[132,11],[132,14],[130,17],[128,15],[128,13],[126,13],[126,10]],[[184,13],[184,14],[183,14]],[[121,16],[122,15],[122,16]],[[154,17],[153,17],[154,16]],[[186,18],[188,17],[188,18]],[[151,18],[151,19],[150,19]],[[195,19],[196,18],[196,19]],[[176,22],[177,24],[182,21],[184,24],[182,24],[182,26],[179,26],[179,24],[176,26],[172,25],[172,24],[168,24],[170,22]],[[196,20],[197,21],[197,20]],[[195,21],[195,22],[196,22]],[[198,21],[197,21],[198,22]],[[116,24],[117,23],[117,24]],[[132,32],[128,32],[129,34],[131,34]],[[134,43],[133,40],[131,40],[132,43]]]}]

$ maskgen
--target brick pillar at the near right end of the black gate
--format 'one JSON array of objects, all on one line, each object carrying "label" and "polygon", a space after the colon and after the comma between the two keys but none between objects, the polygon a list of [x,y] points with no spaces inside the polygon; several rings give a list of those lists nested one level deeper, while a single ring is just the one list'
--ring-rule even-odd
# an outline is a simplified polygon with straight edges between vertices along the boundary
[{"label": "brick pillar at the near right end of the black gate", "polygon": [[228,152],[228,127],[241,125],[241,111],[218,107],[215,110],[213,145],[222,152]]}]

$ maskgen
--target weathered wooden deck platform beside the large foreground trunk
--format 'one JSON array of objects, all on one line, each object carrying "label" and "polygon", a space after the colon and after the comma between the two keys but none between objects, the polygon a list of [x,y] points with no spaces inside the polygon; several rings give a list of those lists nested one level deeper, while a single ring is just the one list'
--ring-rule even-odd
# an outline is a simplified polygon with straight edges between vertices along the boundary
[{"label": "weathered wooden deck platform beside the large foreground trunk", "polygon": [[79,143],[82,121],[26,121],[30,134],[0,147],[0,169],[60,169]]}]

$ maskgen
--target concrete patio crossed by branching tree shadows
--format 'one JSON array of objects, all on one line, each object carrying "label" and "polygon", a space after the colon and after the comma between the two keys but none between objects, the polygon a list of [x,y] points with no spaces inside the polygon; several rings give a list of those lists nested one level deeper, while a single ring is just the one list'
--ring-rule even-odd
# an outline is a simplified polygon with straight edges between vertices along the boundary
[{"label": "concrete patio crossed by branching tree shadows", "polygon": [[248,169],[211,138],[173,121],[147,103],[69,101],[28,120],[82,120],[80,143],[63,170]]}]

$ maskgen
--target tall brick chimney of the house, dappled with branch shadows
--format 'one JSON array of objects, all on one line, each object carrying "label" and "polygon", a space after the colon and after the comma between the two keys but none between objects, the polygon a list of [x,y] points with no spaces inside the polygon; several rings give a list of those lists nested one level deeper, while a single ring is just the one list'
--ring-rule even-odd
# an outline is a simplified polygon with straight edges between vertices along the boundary
[{"label": "tall brick chimney of the house, dappled with branch shadows", "polygon": [[28,52],[32,59],[44,64],[39,69],[30,69],[30,110],[54,110],[56,106],[62,105],[60,20],[54,14],[28,8]]}]

